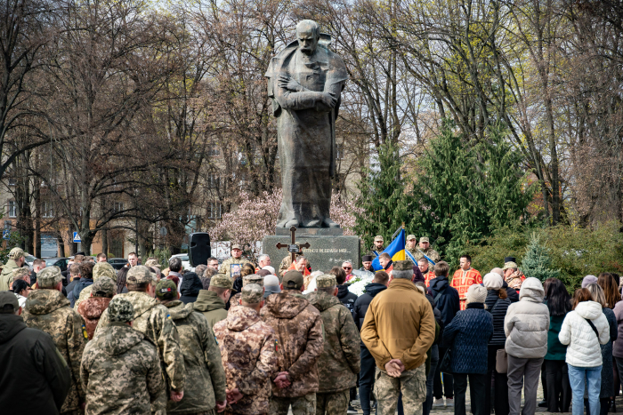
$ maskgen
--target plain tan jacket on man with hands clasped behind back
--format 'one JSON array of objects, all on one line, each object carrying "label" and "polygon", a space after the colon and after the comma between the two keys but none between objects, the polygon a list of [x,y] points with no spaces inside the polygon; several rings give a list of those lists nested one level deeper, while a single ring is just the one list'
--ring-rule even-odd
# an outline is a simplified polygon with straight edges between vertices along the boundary
[{"label": "plain tan jacket on man with hands clasped behind back", "polygon": [[361,327],[361,340],[381,370],[392,359],[400,359],[406,371],[419,367],[434,338],[431,303],[414,283],[402,278],[376,294]]}]

